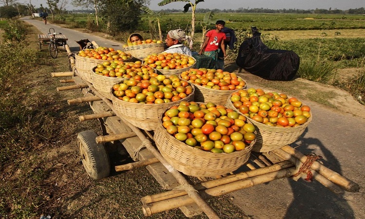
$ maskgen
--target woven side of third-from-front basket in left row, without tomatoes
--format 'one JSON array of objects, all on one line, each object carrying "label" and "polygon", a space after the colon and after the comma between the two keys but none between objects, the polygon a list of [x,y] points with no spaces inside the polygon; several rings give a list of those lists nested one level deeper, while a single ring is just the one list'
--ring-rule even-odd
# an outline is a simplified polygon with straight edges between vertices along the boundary
[{"label": "woven side of third-from-front basket in left row, without tomatoes", "polygon": [[92,86],[103,94],[108,99],[111,99],[111,92],[110,89],[113,85],[118,84],[121,81],[124,81],[126,78],[123,77],[106,77],[103,75],[99,75],[95,73],[95,68],[91,69],[91,78],[92,78]]}]

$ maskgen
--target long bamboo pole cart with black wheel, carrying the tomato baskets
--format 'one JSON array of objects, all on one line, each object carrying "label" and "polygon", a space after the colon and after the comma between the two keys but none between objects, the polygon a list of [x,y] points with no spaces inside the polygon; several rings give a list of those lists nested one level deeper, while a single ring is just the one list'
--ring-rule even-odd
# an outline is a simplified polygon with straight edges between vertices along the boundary
[{"label": "long bamboo pole cart with black wheel, carrying the tomato baskets", "polygon": [[[95,42],[93,44],[97,46]],[[52,73],[52,76],[71,76],[72,79],[61,82],[73,82],[74,85],[59,87],[57,91],[81,90],[84,96],[68,100],[68,103],[70,105],[89,103],[94,114],[80,116],[79,120],[98,119],[103,130],[102,136],[98,136],[91,130],[78,133],[77,146],[82,163],[93,179],[108,177],[111,167],[105,143],[118,143],[125,148],[135,162],[113,166],[113,168],[116,171],[124,171],[146,167],[166,190],[164,193],[141,199],[145,216],[180,208],[187,217],[205,213],[211,219],[219,218],[205,200],[276,179],[298,176],[300,173],[304,174],[298,177],[310,176],[337,194],[343,193],[344,190],[358,192],[360,189],[357,183],[317,162],[318,157],[306,156],[291,146],[283,146],[271,152],[252,152],[249,161],[240,168],[243,170],[214,178],[200,177],[198,179],[201,183],[190,184],[185,176],[166,162],[159,153],[154,144],[152,131],[145,131],[131,125],[113,108],[108,98],[96,91],[91,83],[79,77],[68,45],[66,50],[73,72]]]}]

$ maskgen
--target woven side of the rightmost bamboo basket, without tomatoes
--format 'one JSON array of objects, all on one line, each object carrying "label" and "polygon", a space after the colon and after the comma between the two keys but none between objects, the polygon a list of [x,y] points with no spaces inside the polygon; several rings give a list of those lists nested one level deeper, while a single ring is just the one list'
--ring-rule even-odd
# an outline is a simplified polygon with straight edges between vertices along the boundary
[{"label": "woven side of the rightmost bamboo basket, without tomatoes", "polygon": [[282,128],[282,127],[273,127],[268,126],[255,120],[250,117],[242,114],[237,108],[233,106],[231,101],[231,95],[227,99],[226,107],[232,108],[236,110],[239,114],[245,116],[248,121],[254,124],[257,134],[256,134],[256,143],[253,147],[253,151],[255,152],[269,152],[274,149],[281,148],[283,146],[292,144],[303,134],[304,130],[312,121],[312,113],[310,112],[310,117],[307,122],[298,126],[291,128]]}]

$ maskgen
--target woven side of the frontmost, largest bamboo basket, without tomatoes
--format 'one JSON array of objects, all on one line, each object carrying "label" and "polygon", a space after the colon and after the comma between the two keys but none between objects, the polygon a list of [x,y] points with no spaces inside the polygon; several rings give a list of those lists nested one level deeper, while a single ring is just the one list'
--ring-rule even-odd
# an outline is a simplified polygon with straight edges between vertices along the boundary
[{"label": "woven side of the frontmost, largest bamboo basket, without tomatoes", "polygon": [[161,118],[154,133],[157,148],[176,170],[188,176],[215,177],[237,170],[245,164],[255,141],[243,150],[232,153],[212,153],[188,146],[175,139],[163,127]]}]

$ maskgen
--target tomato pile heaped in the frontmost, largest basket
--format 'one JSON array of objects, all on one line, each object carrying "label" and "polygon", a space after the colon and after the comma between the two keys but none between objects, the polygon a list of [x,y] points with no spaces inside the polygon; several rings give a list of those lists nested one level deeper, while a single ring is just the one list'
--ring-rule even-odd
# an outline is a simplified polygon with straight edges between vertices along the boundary
[{"label": "tomato pile heaped in the frontmost, largest basket", "polygon": [[213,153],[242,150],[256,139],[255,126],[235,110],[182,101],[164,112],[163,127],[188,146]]}]

